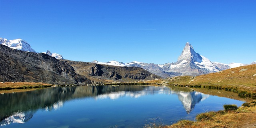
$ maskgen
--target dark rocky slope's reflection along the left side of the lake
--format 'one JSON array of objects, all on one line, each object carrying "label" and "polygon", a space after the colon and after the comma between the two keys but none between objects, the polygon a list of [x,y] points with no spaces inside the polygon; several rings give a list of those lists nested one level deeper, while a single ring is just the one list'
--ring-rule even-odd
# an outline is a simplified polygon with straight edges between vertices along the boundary
[{"label": "dark rocky slope's reflection along the left side of the lake", "polygon": [[[56,110],[68,100],[96,97],[110,92],[141,91],[143,88],[145,86],[74,86],[0,94],[0,124],[26,122],[36,110]],[[28,112],[31,116],[28,116]]]}]

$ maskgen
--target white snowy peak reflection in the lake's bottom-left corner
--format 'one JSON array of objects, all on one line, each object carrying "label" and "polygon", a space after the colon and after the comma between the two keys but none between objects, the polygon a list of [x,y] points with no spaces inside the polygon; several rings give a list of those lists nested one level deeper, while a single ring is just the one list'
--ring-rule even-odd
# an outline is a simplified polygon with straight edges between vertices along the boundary
[{"label": "white snowy peak reflection in the lake's bottom-left corner", "polygon": [[11,123],[20,123],[23,124],[30,120],[33,116],[32,112],[16,112],[9,116],[8,118],[5,118],[0,122],[0,126],[8,125]]}]

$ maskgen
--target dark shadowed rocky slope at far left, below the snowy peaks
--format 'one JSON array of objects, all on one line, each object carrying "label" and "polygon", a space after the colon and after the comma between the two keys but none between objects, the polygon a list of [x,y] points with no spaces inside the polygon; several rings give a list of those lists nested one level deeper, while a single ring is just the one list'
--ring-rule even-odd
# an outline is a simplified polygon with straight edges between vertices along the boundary
[{"label": "dark shadowed rocky slope at far left, below the snowy peaks", "polygon": [[0,81],[89,84],[72,66],[43,53],[24,52],[0,45]]}]

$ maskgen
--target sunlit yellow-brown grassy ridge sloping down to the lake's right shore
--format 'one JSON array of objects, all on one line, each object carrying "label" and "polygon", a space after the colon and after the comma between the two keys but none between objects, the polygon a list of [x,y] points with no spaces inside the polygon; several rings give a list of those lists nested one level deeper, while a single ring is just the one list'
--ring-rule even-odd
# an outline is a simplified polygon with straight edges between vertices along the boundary
[{"label": "sunlit yellow-brown grassy ridge sloping down to the lake's right shore", "polygon": [[196,77],[176,76],[169,78],[168,84],[226,90],[238,93],[240,96],[256,97],[256,64]]}]

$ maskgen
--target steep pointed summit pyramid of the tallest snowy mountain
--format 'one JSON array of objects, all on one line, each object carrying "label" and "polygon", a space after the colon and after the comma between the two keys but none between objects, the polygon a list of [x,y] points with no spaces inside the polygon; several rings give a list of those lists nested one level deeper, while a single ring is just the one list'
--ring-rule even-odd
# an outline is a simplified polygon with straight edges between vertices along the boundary
[{"label": "steep pointed summit pyramid of the tallest snowy mountain", "polygon": [[189,42],[186,42],[186,45],[178,58],[178,63],[184,60],[187,62],[202,62],[202,57],[195,52],[193,46]]}]

